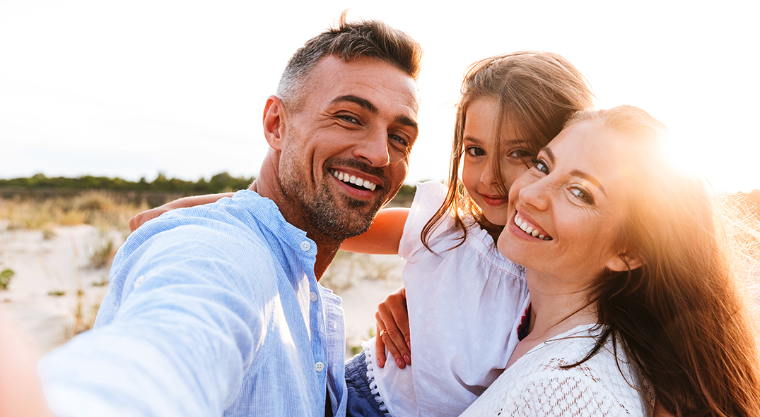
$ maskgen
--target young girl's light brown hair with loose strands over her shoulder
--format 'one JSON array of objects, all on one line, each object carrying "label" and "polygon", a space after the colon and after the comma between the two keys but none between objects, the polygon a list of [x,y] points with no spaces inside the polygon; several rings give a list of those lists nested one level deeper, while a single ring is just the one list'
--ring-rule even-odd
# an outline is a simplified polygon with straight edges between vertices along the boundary
[{"label": "young girl's light brown hair with loose strands over her shoulder", "polygon": [[[467,237],[462,213],[472,215],[489,232],[501,232],[501,226],[495,227],[485,221],[480,208],[467,196],[459,180],[467,108],[476,100],[484,98],[496,99],[499,113],[503,115],[498,119],[496,138],[502,137],[504,119],[508,116],[511,124],[516,124],[515,128],[528,141],[530,152],[536,155],[539,149],[557,136],[573,113],[591,108],[594,96],[583,75],[561,55],[550,52],[527,51],[496,55],[470,65],[462,82],[461,98],[457,105],[448,192],[445,201],[423,227],[421,234],[423,244],[428,249],[430,233],[441,218],[447,215],[453,216],[455,224],[462,230],[460,245]],[[496,149],[493,152],[499,155],[499,140],[494,142]],[[503,187],[504,181],[498,164],[494,168],[496,180],[502,183],[501,191],[507,195],[508,190]]]}]

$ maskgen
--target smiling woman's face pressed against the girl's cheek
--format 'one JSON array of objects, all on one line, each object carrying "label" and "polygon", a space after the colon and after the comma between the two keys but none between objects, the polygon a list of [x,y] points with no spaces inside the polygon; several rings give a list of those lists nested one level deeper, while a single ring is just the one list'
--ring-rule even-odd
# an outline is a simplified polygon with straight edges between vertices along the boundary
[{"label": "smiling woman's face pressed against the girl's cheek", "polygon": [[526,268],[587,284],[605,268],[625,270],[613,251],[635,145],[584,121],[562,130],[512,184],[499,251]]}]

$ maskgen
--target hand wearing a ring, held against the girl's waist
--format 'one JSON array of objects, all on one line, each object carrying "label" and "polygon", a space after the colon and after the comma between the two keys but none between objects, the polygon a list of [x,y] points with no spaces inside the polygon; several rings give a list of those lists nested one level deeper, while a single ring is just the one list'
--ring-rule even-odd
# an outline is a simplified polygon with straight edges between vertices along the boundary
[{"label": "hand wearing a ring, held against the girl's waist", "polygon": [[377,347],[378,366],[385,366],[385,348],[393,356],[396,365],[404,369],[412,364],[411,342],[409,334],[409,312],[407,311],[407,290],[392,293],[378,306],[375,313],[377,320],[377,335],[375,346]]}]

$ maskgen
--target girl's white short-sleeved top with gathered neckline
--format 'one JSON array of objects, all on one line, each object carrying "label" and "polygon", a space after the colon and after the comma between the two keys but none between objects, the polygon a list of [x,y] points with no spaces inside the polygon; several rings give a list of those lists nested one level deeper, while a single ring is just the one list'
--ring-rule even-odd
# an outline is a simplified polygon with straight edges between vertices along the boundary
[{"label": "girl's white short-sleeved top with gathered neckline", "polygon": [[[450,216],[429,238],[420,233],[446,195],[442,183],[417,184],[398,254],[407,260],[412,365],[377,366],[375,341],[364,343],[371,386],[394,417],[459,415],[506,367],[527,307],[524,269],[496,249],[471,218],[467,240]],[[390,355],[388,355],[390,358]]]}]

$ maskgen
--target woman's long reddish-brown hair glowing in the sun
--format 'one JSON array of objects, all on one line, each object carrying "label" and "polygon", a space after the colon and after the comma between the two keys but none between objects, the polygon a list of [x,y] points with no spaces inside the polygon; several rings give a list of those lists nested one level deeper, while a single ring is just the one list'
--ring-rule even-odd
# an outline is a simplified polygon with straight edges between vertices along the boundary
[{"label": "woman's long reddish-brown hair glowing in the sun", "polygon": [[643,266],[594,282],[590,303],[606,325],[597,350],[607,338],[621,343],[674,415],[760,415],[758,328],[746,291],[757,230],[745,228],[749,218],[724,225],[701,180],[660,156],[663,126],[641,109],[581,113],[568,124],[581,121],[641,145],[617,250]]}]

